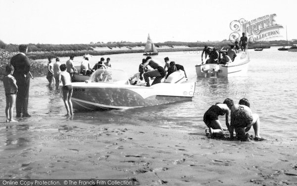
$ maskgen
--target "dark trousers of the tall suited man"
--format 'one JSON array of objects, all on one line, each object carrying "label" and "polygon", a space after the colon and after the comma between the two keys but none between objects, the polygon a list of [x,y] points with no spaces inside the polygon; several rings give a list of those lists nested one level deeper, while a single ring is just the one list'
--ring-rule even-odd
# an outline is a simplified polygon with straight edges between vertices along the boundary
[{"label": "dark trousers of the tall suited man", "polygon": [[28,114],[28,99],[29,99],[29,87],[30,77],[26,78],[24,75],[15,75],[16,85],[18,86],[18,92],[16,94],[16,115]]}]

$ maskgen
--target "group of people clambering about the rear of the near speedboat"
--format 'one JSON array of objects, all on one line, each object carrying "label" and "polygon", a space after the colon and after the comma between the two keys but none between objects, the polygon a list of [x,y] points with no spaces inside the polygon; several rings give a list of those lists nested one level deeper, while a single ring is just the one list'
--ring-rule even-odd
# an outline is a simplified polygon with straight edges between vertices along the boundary
[{"label": "group of people clambering about the rear of the near speedboat", "polygon": [[[145,79],[146,86],[151,86],[156,83],[160,83],[161,80],[172,74],[177,70],[183,70],[185,73],[185,77],[187,78],[186,71],[183,65],[176,64],[175,62],[169,62],[169,58],[164,58],[165,64],[163,65],[161,62],[152,59],[151,57],[147,57],[142,60],[142,63],[139,65],[139,71],[129,78],[130,83],[132,85],[136,85],[138,80]],[[148,66],[151,68],[149,69]],[[153,82],[150,84],[150,78],[153,78]],[[134,82],[133,82],[134,81]]]}]

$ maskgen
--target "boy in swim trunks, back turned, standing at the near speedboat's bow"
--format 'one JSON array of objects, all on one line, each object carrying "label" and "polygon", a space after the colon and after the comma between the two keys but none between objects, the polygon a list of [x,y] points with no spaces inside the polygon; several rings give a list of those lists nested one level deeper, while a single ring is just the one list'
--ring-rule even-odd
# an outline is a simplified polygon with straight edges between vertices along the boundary
[{"label": "boy in swim trunks, back turned, standing at the near speedboat's bow", "polygon": [[73,116],[73,109],[72,109],[72,85],[71,85],[71,77],[70,74],[65,71],[66,65],[61,64],[60,65],[61,72],[59,74],[59,82],[62,81],[63,87],[62,87],[62,93],[63,93],[63,101],[67,110],[67,114],[65,116],[69,116],[69,113],[71,116]]}]

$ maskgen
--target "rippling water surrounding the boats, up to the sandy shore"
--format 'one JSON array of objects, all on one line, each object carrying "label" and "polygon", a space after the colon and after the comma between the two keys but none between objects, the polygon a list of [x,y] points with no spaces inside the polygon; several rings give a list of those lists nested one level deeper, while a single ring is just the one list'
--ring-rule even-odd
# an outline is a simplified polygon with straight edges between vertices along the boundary
[{"label": "rippling water surrounding the boats, up to the sandy shore", "polygon": [[[193,128],[203,132],[204,112],[226,97],[238,102],[245,97],[250,101],[251,109],[261,119],[261,133],[265,137],[295,138],[297,128],[297,52],[278,51],[277,47],[262,52],[249,50],[250,64],[247,74],[232,78],[197,78],[195,64],[200,63],[200,53],[190,51],[159,53],[154,57],[163,62],[171,61],[185,67],[189,81],[196,81],[196,96],[192,102],[180,102],[141,109],[110,110],[76,113],[74,120],[89,124],[148,124],[171,128]],[[94,56],[92,64],[102,56]],[[128,75],[138,71],[142,54],[119,54],[103,56],[111,58],[113,68],[123,69]],[[68,58],[60,58],[66,62]],[[44,60],[40,60],[44,61]],[[79,65],[82,57],[74,62]],[[5,121],[5,95],[0,83],[0,120]],[[64,104],[52,88],[46,77],[31,79],[29,112],[33,115],[28,121],[66,120]],[[15,112],[14,112],[15,114]],[[221,117],[222,122],[224,117]],[[0,145],[3,143],[1,142]]]}]

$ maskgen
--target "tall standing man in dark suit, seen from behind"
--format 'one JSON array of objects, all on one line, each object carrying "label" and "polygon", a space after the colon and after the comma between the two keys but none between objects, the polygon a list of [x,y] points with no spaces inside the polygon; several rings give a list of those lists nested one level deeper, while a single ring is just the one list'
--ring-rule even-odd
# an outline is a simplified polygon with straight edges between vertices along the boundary
[{"label": "tall standing man in dark suit, seen from behind", "polygon": [[18,92],[16,94],[16,117],[31,117],[28,114],[28,99],[29,99],[29,86],[30,86],[30,61],[26,56],[28,52],[27,45],[19,46],[20,53],[13,56],[10,64],[14,67],[13,76],[16,79]]}]

